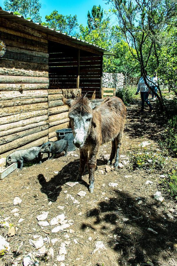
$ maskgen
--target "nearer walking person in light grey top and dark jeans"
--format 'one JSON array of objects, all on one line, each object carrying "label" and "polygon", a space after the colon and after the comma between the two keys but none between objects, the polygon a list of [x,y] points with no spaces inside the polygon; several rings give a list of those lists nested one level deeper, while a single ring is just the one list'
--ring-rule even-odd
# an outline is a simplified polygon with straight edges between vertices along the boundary
[{"label": "nearer walking person in light grey top and dark jeans", "polygon": [[[151,78],[149,76],[147,76],[147,71],[145,70],[145,75],[148,78],[148,80],[151,81]],[[147,79],[146,79],[147,80]],[[151,82],[147,80],[147,83],[150,85]],[[140,96],[141,96],[141,110],[140,112],[144,112],[144,106],[145,103],[147,103],[147,105],[149,106],[149,113],[151,113],[153,111],[153,108],[148,100],[148,96],[149,96],[149,88],[148,86],[146,86],[144,78],[140,77],[140,80],[138,82],[138,87],[137,87],[137,92],[135,93],[135,95],[137,95],[140,91]]]}]

